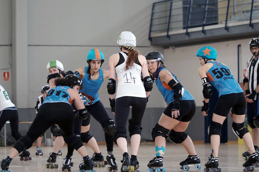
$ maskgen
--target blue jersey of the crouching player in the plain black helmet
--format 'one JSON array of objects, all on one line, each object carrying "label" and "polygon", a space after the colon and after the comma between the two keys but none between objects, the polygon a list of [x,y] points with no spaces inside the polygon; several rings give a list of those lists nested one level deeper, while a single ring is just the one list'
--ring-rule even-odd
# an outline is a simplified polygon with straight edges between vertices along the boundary
[{"label": "blue jersey of the crouching player in the plain black helmet", "polygon": [[[166,68],[162,68],[161,70],[163,70],[163,69],[167,70]],[[157,72],[159,73],[160,71],[157,71]],[[170,73],[172,73],[172,72],[170,72]],[[176,78],[176,76],[173,73],[172,73],[172,75],[178,81],[178,79]],[[167,104],[170,104],[171,102],[174,101],[174,89],[172,89],[165,82],[160,81],[159,77],[157,77],[157,79],[156,79],[156,85],[157,85],[158,90],[163,95]],[[182,86],[182,94],[183,94],[182,100],[194,100],[193,96],[183,86]]]}]

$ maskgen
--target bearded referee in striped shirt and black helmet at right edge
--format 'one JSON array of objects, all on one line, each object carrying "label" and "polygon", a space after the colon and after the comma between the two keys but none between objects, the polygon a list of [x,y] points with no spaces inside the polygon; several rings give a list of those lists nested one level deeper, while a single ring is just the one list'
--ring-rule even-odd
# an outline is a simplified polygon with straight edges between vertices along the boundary
[{"label": "bearded referee in striped shirt and black helmet at right edge", "polygon": [[[253,56],[247,61],[247,69],[243,83],[247,101],[247,124],[252,128],[254,149],[259,154],[259,38],[253,38],[249,42],[249,47]],[[249,151],[244,152],[242,156],[247,159],[247,156],[249,156]]]}]

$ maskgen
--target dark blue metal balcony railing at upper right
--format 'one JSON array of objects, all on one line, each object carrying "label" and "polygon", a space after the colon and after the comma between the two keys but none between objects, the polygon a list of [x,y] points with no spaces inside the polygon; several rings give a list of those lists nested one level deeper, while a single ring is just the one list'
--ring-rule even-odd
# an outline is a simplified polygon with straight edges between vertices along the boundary
[{"label": "dark blue metal balcony railing at upper right", "polygon": [[149,40],[153,33],[165,33],[170,38],[170,31],[224,24],[228,22],[259,18],[259,0],[165,0],[153,3]]}]

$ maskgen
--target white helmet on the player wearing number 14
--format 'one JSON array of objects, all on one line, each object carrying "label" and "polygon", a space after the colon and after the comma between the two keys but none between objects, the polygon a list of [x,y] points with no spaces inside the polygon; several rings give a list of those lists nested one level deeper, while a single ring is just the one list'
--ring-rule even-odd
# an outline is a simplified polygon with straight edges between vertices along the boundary
[{"label": "white helmet on the player wearing number 14", "polygon": [[123,32],[121,32],[121,34],[117,40],[117,44],[119,44],[119,46],[135,47],[136,46],[136,37],[134,34],[132,34],[129,31],[123,31]]}]

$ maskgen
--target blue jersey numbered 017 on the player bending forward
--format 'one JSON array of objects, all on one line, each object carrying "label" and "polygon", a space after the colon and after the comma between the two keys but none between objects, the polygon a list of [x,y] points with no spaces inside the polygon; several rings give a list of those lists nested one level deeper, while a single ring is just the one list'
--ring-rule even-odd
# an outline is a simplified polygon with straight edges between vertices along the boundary
[{"label": "blue jersey numbered 017 on the player bending forward", "polygon": [[68,86],[58,85],[55,88],[50,89],[41,105],[44,103],[55,103],[55,102],[65,102],[71,104],[70,95],[67,89],[71,89]]}]

